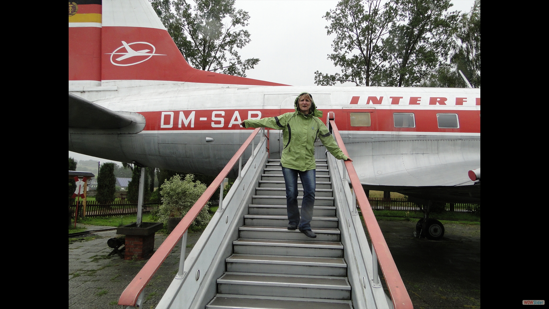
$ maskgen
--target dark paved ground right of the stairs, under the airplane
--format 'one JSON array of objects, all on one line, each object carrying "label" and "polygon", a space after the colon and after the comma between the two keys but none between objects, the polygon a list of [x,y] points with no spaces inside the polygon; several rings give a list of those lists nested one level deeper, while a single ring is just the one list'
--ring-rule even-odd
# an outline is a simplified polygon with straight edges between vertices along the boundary
[{"label": "dark paved ground right of the stairs, under the airplane", "polygon": [[445,224],[436,241],[413,238],[416,222],[378,223],[414,308],[480,308],[480,225]]}]

